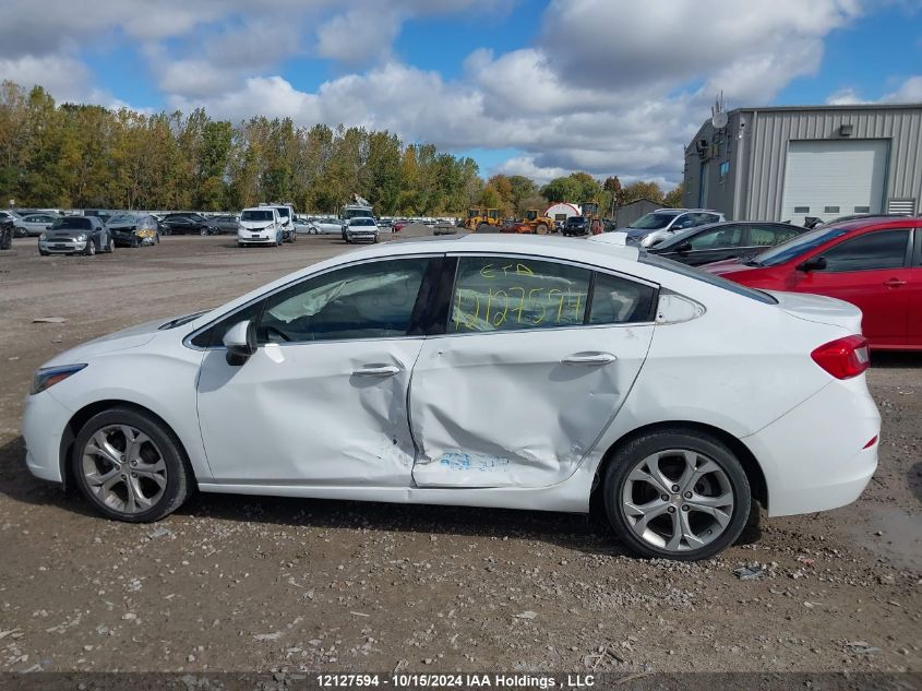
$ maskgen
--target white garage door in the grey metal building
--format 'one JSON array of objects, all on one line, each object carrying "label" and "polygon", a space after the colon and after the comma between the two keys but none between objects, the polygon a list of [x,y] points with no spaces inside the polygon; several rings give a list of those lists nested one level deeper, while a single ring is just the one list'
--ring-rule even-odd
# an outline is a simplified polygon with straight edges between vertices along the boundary
[{"label": "white garage door in the grey metal building", "polygon": [[790,142],[781,221],[881,213],[888,151],[884,139]]}]

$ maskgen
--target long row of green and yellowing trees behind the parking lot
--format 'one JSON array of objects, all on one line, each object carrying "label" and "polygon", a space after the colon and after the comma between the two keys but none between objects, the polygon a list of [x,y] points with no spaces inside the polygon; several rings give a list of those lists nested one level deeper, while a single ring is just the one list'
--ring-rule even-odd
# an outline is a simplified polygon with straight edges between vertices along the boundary
[{"label": "long row of green and yellowing trees behind the parking lot", "polygon": [[602,210],[647,196],[678,205],[654,182],[621,187],[574,172],[540,187],[524,176],[483,180],[467,156],[405,143],[388,131],[297,127],[289,118],[234,124],[204,109],[146,115],[64,103],[40,86],[0,84],[2,203],[58,209],[237,210],[291,201],[333,213],[356,193],[381,215],[462,214],[470,206],[522,216],[556,201]]}]

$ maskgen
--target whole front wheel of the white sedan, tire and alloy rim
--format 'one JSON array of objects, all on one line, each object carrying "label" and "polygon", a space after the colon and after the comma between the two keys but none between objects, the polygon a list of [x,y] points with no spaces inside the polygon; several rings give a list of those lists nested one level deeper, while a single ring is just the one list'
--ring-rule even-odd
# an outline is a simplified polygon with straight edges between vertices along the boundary
[{"label": "whole front wheel of the white sedan, tire and alloy rim", "polygon": [[157,521],[176,511],[194,486],[172,432],[130,408],[92,417],[73,449],[72,470],[81,492],[110,519]]}]

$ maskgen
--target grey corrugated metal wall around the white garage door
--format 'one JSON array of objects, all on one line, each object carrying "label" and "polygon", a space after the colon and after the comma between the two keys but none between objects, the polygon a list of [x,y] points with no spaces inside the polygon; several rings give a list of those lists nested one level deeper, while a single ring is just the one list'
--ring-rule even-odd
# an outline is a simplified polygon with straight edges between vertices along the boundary
[{"label": "grey corrugated metal wall around the white garage door", "polygon": [[[781,198],[785,163],[791,140],[888,139],[885,199],[912,198],[915,211],[922,203],[922,106],[900,108],[817,108],[791,110],[734,110],[726,128],[723,143],[705,170],[709,179],[704,205],[717,209],[728,218],[783,221]],[[842,124],[851,124],[848,138],[839,134]],[[742,127],[742,129],[741,129]],[[702,189],[701,159],[695,141],[714,140],[714,129],[706,122],[685,152],[684,204],[697,206]],[[721,178],[719,165],[729,162],[729,176]]]}]

